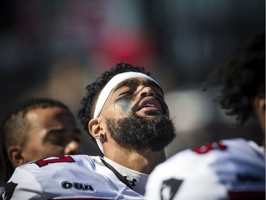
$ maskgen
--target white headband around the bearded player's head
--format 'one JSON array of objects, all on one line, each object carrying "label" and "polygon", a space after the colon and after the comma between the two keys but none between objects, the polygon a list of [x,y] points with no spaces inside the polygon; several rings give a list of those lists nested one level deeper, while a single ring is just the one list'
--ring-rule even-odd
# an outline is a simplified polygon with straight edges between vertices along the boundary
[{"label": "white headband around the bearded player's head", "polygon": [[[113,78],[111,78],[111,80],[109,80],[109,82],[104,86],[104,89],[101,90],[99,98],[96,102],[96,106],[95,106],[95,110],[94,110],[94,118],[99,117],[99,115],[101,113],[101,109],[104,107],[104,103],[106,102],[106,100],[109,97],[113,88],[116,87],[116,85],[118,83],[121,83],[123,80],[126,80],[128,78],[147,78],[149,80],[153,80],[153,82],[155,82],[157,85],[159,85],[159,83],[157,83],[156,80],[154,80],[153,78],[151,78],[148,75],[145,75],[144,73],[125,72],[125,73],[120,73],[118,75],[113,76]],[[97,142],[99,148],[101,149],[101,152],[104,153],[104,148],[101,144],[101,141],[99,139],[96,139],[96,142]]]}]

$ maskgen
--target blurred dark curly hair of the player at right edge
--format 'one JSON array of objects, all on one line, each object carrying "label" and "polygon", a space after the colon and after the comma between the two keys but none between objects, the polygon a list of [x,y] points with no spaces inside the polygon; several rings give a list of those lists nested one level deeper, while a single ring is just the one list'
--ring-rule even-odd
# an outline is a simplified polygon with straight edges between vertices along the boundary
[{"label": "blurred dark curly hair of the player at right edge", "polygon": [[265,98],[265,33],[253,36],[218,65],[204,85],[223,85],[216,101],[235,115],[236,125],[243,125],[253,112],[253,100],[257,95]]}]

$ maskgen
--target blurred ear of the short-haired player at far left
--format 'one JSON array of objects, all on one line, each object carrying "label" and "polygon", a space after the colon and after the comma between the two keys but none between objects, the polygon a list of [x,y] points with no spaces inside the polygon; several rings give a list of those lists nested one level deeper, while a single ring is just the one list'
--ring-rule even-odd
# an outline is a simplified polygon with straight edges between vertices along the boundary
[{"label": "blurred ear of the short-haired player at far left", "polygon": [[23,157],[19,145],[9,147],[9,149],[7,149],[7,154],[14,168],[26,163],[26,159]]}]

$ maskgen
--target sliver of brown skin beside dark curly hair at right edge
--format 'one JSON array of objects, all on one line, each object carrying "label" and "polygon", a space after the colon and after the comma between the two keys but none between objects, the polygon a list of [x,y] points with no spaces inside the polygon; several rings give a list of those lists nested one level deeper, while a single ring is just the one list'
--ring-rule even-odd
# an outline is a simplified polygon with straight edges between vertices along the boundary
[{"label": "sliver of brown skin beside dark curly hair at right edge", "polygon": [[257,96],[254,100],[254,107],[257,119],[260,122],[262,130],[265,132],[265,97]]}]

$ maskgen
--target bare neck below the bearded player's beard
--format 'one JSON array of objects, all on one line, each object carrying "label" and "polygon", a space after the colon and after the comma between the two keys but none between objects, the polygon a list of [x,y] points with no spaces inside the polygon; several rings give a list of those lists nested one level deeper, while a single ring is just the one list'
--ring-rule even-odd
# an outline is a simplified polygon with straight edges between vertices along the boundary
[{"label": "bare neck below the bearded player's beard", "polygon": [[157,164],[165,161],[164,150],[160,152],[151,152],[150,150],[136,152],[129,149],[113,148],[104,149],[104,152],[106,152],[104,156],[113,162],[143,174],[150,174]]}]

